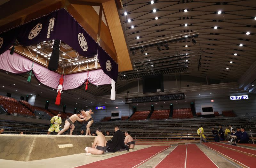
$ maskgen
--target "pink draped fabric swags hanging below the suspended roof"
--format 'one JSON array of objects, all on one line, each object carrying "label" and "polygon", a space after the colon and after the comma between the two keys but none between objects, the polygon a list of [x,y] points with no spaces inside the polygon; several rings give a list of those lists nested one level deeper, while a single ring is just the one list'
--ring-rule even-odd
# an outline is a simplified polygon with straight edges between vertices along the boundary
[{"label": "pink draped fabric swags hanging below the suspended roof", "polygon": [[[21,74],[31,70],[33,61],[17,54],[10,54],[10,50],[5,51],[0,55],[0,69],[5,71]],[[34,63],[32,68],[38,81],[44,85],[57,89],[60,80],[60,74],[48,70],[37,63]],[[88,81],[94,85],[105,85],[111,83],[111,78],[106,75],[102,69],[88,71]],[[87,79],[88,72],[65,75],[63,82],[63,90],[74,89],[81,86]]]}]

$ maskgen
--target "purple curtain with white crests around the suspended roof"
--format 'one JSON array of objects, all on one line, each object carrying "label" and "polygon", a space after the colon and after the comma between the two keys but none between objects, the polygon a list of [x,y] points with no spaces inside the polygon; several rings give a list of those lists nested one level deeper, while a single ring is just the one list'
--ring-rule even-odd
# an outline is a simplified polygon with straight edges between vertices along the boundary
[{"label": "purple curtain with white crests around the suspended roof", "polygon": [[[11,47],[16,39],[23,46],[59,39],[87,58],[93,58],[98,48],[96,41],[65,9],[56,10],[1,33],[0,54]],[[118,64],[100,46],[98,59],[104,73],[116,81]]]}]

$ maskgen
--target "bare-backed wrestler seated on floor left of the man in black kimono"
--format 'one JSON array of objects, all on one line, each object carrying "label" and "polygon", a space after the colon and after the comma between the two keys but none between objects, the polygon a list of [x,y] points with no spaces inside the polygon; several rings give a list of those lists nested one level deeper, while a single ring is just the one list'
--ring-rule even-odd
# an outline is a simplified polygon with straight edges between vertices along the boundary
[{"label": "bare-backed wrestler seated on floor left of the man in black kimono", "polygon": [[96,130],[98,136],[95,137],[92,147],[86,147],[84,151],[86,155],[100,155],[103,154],[106,150],[106,138],[101,132],[101,127],[98,127]]}]

